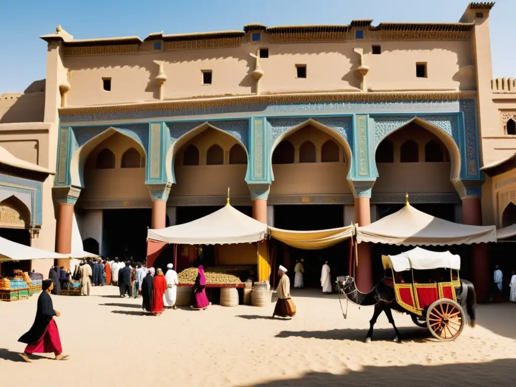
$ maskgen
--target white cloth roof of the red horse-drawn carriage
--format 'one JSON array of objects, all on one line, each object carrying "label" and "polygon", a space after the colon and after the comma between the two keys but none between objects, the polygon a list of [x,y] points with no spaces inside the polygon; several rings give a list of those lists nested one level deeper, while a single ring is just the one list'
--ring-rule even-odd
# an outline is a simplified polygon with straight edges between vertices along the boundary
[{"label": "white cloth roof of the red horse-drawn carriage", "polygon": [[460,256],[449,251],[430,251],[416,247],[396,255],[382,255],[384,268],[392,267],[394,271],[460,269]]}]

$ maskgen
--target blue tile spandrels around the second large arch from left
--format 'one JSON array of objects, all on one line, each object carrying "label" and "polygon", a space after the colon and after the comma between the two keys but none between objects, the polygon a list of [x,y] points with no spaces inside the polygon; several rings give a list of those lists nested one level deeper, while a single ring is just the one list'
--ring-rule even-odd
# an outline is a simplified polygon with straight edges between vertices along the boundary
[{"label": "blue tile spandrels around the second large arch from left", "polygon": [[217,129],[228,133],[240,140],[249,151],[249,120],[215,120],[215,121],[186,121],[186,122],[167,122],[170,131],[170,145],[177,141],[181,136],[191,131],[193,128],[208,123]]}]

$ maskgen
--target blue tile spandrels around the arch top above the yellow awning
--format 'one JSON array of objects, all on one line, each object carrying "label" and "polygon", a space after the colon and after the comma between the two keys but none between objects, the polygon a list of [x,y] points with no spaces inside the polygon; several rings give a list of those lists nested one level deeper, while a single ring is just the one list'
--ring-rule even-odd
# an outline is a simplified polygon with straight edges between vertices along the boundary
[{"label": "blue tile spandrels around the arch top above the yellow awning", "polygon": [[332,128],[335,132],[341,134],[353,149],[352,134],[352,117],[301,117],[301,118],[269,118],[270,124],[270,146],[274,146],[276,140],[285,132],[295,126],[301,125],[309,119],[313,119],[318,123]]}]

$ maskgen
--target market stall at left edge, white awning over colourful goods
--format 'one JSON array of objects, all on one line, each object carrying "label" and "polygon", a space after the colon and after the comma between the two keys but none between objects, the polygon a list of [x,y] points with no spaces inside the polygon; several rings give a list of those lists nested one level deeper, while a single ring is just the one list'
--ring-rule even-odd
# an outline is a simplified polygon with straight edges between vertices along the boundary
[{"label": "market stall at left edge, white awning over colourful goods", "polygon": [[[20,245],[0,237],[0,264],[9,261],[29,261],[37,259],[68,259],[67,255],[34,247]],[[12,276],[0,278],[0,300],[18,301],[41,291],[43,276],[13,270]]]}]

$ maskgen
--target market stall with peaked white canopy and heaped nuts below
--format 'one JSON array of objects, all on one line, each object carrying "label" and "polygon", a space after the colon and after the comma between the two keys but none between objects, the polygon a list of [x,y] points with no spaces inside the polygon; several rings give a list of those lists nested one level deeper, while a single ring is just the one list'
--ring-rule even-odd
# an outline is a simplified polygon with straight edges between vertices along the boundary
[{"label": "market stall with peaked white canopy and heaped nuts below", "polygon": [[[154,265],[159,253],[169,244],[173,244],[175,247],[178,245],[250,244],[248,249],[239,250],[243,254],[241,262],[244,265],[233,264],[205,268],[206,287],[222,289],[221,304],[223,304],[222,300],[227,298],[227,304],[234,305],[236,288],[250,286],[249,282],[234,273],[241,271],[249,263],[249,259],[254,263],[254,267],[257,267],[257,279],[259,281],[268,281],[269,279],[270,262],[266,237],[266,224],[241,213],[228,201],[223,208],[203,218],[165,229],[150,229],[147,235],[147,267]],[[174,267],[177,267],[175,248],[173,261]],[[190,268],[179,273],[178,304],[189,302],[188,295],[191,294],[191,286],[197,277],[196,270],[196,268]]]}]

